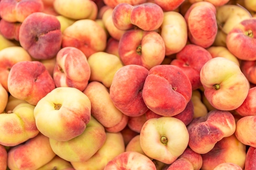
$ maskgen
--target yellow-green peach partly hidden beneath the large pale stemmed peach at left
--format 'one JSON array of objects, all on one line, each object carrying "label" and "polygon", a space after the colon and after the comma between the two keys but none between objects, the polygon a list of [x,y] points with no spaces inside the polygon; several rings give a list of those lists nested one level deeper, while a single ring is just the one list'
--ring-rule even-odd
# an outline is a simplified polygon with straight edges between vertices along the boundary
[{"label": "yellow-green peach partly hidden beneath the large pale stemmed peach at left", "polygon": [[87,161],[103,146],[105,141],[105,129],[94,117],[91,117],[83,133],[73,139],[68,141],[49,139],[54,153],[70,162]]}]

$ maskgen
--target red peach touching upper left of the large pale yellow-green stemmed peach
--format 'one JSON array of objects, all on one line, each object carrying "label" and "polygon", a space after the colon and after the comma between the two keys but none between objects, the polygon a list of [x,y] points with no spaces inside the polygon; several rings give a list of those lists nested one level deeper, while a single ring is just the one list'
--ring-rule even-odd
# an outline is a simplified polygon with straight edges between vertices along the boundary
[{"label": "red peach touching upper left of the large pale yellow-green stemmed peach", "polygon": [[36,105],[55,88],[52,76],[38,61],[17,62],[11,67],[7,79],[9,93],[29,104]]}]

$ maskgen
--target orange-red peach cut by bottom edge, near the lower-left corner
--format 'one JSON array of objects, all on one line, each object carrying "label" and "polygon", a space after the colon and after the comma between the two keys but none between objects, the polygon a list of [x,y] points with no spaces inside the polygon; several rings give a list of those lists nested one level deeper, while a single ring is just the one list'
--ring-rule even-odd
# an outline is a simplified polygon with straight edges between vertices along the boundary
[{"label": "orange-red peach cut by bottom edge, near the lower-left corner", "polygon": [[36,170],[55,156],[49,144],[49,138],[39,133],[36,137],[9,150],[7,166],[11,170]]}]

